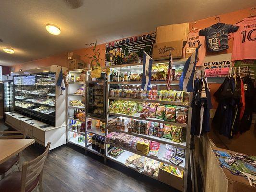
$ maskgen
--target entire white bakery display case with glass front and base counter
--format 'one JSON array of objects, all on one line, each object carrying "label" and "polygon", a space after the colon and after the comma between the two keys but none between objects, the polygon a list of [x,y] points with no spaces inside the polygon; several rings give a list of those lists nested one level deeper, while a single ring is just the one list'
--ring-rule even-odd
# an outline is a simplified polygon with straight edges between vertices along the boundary
[{"label": "entire white bakery display case with glass front and base counter", "polygon": [[5,124],[28,130],[28,137],[51,149],[66,144],[66,90],[56,85],[68,69],[58,65],[11,72],[13,112],[5,112]]}]

